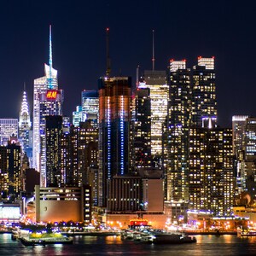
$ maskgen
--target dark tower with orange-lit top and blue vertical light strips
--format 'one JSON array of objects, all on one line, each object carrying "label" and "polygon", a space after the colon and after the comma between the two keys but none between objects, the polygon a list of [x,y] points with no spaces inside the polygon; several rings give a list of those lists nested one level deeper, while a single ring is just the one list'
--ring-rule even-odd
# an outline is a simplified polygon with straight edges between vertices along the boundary
[{"label": "dark tower with orange-lit top and blue vertical light strips", "polygon": [[99,79],[99,206],[106,206],[107,180],[129,172],[131,78]]}]

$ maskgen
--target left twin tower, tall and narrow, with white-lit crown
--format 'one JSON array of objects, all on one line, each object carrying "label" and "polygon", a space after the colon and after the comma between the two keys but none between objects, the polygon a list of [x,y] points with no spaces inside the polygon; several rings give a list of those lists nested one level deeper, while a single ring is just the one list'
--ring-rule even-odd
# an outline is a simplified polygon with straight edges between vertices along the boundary
[{"label": "left twin tower, tall and narrow, with white-lit crown", "polygon": [[190,69],[186,61],[170,61],[168,78],[168,143],[166,164],[166,200],[189,200],[189,125],[191,121]]}]

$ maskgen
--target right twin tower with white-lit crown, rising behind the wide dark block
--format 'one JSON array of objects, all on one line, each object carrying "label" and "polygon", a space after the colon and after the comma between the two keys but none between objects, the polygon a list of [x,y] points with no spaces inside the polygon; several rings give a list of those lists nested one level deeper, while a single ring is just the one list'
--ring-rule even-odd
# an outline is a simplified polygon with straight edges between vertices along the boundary
[{"label": "right twin tower with white-lit crown, rising behind the wide dark block", "polygon": [[198,57],[192,69],[192,125],[207,127],[217,121],[214,57]]}]

